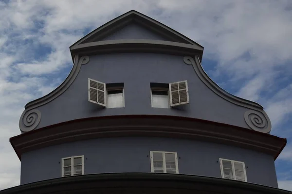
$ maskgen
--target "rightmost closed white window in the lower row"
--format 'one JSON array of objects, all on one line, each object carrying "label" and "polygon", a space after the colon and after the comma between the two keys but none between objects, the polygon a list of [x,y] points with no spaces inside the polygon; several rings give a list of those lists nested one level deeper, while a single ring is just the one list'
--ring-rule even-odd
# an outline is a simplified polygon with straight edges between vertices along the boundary
[{"label": "rightmost closed white window in the lower row", "polygon": [[247,182],[244,162],[220,158],[222,178]]}]

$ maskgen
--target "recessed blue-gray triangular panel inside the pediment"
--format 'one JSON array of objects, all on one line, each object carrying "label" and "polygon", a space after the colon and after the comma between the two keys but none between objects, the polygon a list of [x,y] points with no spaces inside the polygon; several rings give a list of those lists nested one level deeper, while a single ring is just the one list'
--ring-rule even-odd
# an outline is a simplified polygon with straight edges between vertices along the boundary
[{"label": "recessed blue-gray triangular panel inside the pediment", "polygon": [[124,39],[147,39],[147,40],[164,40],[171,41],[171,39],[162,36],[156,32],[148,30],[146,27],[139,25],[137,22],[132,22],[122,29],[112,32],[109,36],[101,39],[105,40],[124,40]]}]

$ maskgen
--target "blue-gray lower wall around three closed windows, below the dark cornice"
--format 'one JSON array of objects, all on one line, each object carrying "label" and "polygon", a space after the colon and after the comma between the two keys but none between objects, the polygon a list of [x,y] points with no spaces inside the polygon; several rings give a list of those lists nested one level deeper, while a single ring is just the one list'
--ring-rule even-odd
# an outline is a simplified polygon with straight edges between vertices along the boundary
[{"label": "blue-gray lower wall around three closed windows, below the dark cornice", "polygon": [[61,158],[84,155],[84,172],[151,172],[150,151],[178,153],[179,173],[221,177],[219,158],[245,162],[248,182],[277,187],[272,156],[234,146],[155,137],[103,138],[50,146],[21,156],[20,184],[61,177]]}]

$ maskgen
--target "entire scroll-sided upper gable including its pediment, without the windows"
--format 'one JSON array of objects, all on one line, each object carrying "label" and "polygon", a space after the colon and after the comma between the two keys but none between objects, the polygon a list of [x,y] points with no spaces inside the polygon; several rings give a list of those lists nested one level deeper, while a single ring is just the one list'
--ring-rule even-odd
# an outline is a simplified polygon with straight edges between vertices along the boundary
[{"label": "entire scroll-sided upper gable including its pediment, without the windows", "polygon": [[[77,41],[70,50],[75,57],[70,75],[53,92],[25,106],[26,110],[19,120],[21,131],[27,132],[78,118],[127,113],[186,116],[264,133],[271,130],[271,122],[263,107],[229,94],[206,75],[201,67],[203,48],[200,45],[135,11],[101,26]],[[197,75],[195,77],[194,71]],[[112,112],[108,109],[99,112],[88,104],[88,78],[104,85],[125,82],[125,91],[142,96],[135,97],[125,93],[128,100],[125,101],[125,110],[129,112]],[[164,112],[156,112],[151,105],[147,106],[150,82],[169,84],[186,80],[190,81],[188,92],[190,97],[193,96],[191,105],[179,108],[182,111],[173,108]],[[72,84],[74,85],[70,87]],[[104,89],[102,91],[105,92]],[[202,91],[205,91],[205,94]],[[54,103],[49,104],[53,100]],[[74,112],[66,112],[73,106]],[[28,124],[31,118],[34,118],[35,122]]]}]

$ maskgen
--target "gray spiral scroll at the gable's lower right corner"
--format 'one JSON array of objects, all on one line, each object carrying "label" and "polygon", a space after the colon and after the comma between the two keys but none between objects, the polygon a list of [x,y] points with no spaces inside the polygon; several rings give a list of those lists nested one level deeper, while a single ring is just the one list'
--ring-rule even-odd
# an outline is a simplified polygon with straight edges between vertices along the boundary
[{"label": "gray spiral scroll at the gable's lower right corner", "polygon": [[244,120],[251,129],[259,132],[269,133],[272,129],[271,121],[266,113],[249,110],[244,113]]}]

